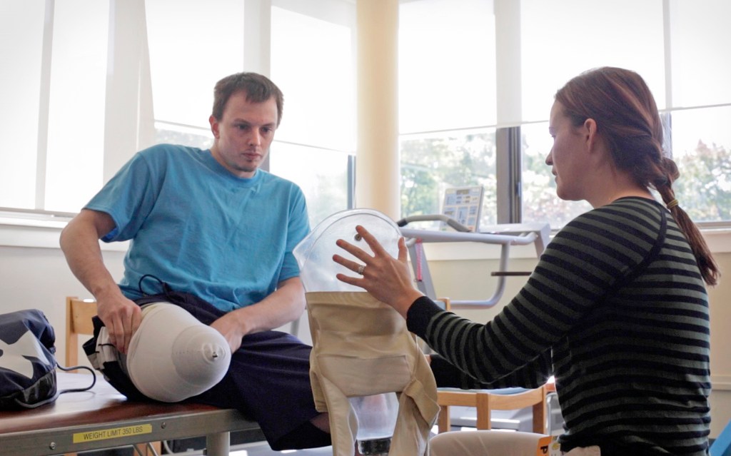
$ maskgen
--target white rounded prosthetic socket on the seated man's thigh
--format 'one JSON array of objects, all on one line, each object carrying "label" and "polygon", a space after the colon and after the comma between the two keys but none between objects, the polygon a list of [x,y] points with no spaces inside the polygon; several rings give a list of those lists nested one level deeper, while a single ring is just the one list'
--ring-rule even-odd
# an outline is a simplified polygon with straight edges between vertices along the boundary
[{"label": "white rounded prosthetic socket on the seated man's thigh", "polygon": [[126,355],[137,390],[151,399],[178,402],[223,379],[231,349],[221,333],[170,303],[144,305],[142,314]]}]

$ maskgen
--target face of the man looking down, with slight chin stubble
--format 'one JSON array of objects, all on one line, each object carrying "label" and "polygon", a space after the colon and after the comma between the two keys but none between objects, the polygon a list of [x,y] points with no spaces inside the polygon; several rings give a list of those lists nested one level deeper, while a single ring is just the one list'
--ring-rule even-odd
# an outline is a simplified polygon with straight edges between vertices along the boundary
[{"label": "face of the man looking down, with slight chin stubble", "polygon": [[252,178],[269,153],[277,126],[276,101],[246,101],[246,92],[231,96],[222,118],[211,115],[211,153],[223,167],[240,178]]}]

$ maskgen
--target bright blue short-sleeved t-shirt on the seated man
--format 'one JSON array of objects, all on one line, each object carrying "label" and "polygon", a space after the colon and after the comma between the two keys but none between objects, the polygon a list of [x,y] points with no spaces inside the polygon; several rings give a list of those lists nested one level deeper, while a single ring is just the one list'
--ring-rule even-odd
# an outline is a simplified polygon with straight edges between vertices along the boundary
[{"label": "bright blue short-sleeved t-shirt on the seated man", "polygon": [[[116,227],[102,240],[131,240],[119,284],[141,297],[151,274],[223,311],[251,305],[299,276],[292,250],[309,232],[295,183],[257,170],[238,178],[211,151],[155,145],[138,152],[86,205]],[[162,292],[145,279],[147,294]]]}]

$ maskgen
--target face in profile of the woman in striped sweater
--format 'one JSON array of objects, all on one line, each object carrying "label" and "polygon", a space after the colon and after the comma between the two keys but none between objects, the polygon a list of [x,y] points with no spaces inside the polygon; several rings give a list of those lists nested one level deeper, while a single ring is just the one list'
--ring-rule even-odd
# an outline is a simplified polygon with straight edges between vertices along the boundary
[{"label": "face in profile of the woman in striped sweater", "polygon": [[546,164],[556,176],[556,194],[561,199],[578,201],[586,199],[588,189],[588,141],[583,126],[573,126],[564,114],[564,106],[554,102],[550,110],[548,132],[553,137],[553,147],[546,157]]}]

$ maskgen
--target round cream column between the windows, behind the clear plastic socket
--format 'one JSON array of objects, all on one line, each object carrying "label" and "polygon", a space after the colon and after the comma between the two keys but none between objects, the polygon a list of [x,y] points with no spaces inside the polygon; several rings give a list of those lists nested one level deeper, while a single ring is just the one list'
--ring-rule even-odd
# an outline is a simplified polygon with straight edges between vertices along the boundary
[{"label": "round cream column between the windows, behind the clear plastic socket", "polygon": [[355,205],[401,217],[398,0],[357,0]]}]

